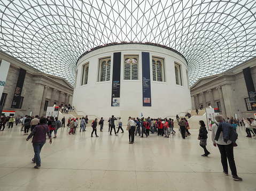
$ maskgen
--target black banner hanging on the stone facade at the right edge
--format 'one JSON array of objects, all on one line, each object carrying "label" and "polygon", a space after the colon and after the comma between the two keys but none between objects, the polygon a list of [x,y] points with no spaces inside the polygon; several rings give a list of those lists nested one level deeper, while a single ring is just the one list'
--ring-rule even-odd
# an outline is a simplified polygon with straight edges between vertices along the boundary
[{"label": "black banner hanging on the stone facade at the right edge", "polygon": [[252,106],[252,110],[256,110],[256,93],[255,93],[255,87],[253,84],[250,67],[243,69],[243,73],[244,73],[244,80],[245,80],[249,100]]}]

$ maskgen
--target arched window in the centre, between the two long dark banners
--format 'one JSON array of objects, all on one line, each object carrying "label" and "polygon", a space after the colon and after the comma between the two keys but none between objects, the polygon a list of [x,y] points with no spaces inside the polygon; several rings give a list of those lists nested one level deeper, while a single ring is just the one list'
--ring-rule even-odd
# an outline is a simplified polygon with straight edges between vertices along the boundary
[{"label": "arched window in the centre, between the two long dark banners", "polygon": [[125,80],[138,79],[138,56],[125,56]]}]

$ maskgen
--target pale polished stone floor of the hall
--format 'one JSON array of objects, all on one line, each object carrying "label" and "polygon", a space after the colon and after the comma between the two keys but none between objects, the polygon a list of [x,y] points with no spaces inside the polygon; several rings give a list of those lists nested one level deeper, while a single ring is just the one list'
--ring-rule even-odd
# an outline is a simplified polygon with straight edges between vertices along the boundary
[{"label": "pale polished stone floor of the hall", "polygon": [[[201,157],[198,129],[185,140],[176,136],[135,137],[128,144],[128,132],[108,136],[107,127],[99,137],[86,132],[68,135],[58,130],[56,139],[41,152],[41,168],[31,161],[33,146],[26,142],[20,126],[0,131],[0,190],[255,190],[256,139],[239,129],[235,148],[238,176],[224,176],[218,148],[207,139],[209,157]],[[211,137],[209,132],[208,137]]]}]

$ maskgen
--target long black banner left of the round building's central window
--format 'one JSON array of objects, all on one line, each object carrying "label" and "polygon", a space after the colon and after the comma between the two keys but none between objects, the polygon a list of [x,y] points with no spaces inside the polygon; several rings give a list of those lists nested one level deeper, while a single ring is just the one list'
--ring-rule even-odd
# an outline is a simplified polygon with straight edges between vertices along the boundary
[{"label": "long black banner left of the round building's central window", "polygon": [[113,74],[112,74],[112,96],[111,106],[120,106],[120,74],[121,74],[121,52],[113,55]]}]

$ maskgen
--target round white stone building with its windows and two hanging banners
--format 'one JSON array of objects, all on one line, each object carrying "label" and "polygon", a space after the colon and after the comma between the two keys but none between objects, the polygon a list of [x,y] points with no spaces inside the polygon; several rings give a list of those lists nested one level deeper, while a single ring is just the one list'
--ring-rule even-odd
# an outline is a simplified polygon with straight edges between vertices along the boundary
[{"label": "round white stone building with its windows and two hanging banners", "polygon": [[108,119],[175,117],[191,109],[185,57],[152,43],[111,43],[80,56],[73,105],[77,114]]}]

